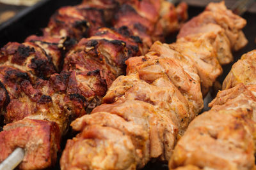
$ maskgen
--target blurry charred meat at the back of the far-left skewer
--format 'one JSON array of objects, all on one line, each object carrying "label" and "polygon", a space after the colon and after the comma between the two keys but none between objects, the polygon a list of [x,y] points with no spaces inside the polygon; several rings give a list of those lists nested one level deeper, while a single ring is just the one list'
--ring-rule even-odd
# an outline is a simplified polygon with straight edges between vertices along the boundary
[{"label": "blurry charred meat at the back of the far-left skewer", "polygon": [[36,43],[52,58],[60,70],[63,55],[83,37],[92,36],[105,25],[101,9],[67,6],[58,10],[44,29],[44,36],[29,36],[26,42]]}]

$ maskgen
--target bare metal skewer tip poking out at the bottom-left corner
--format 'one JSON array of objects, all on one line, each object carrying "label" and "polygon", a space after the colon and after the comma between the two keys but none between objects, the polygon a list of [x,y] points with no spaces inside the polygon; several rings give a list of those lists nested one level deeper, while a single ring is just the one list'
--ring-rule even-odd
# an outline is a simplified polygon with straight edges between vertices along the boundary
[{"label": "bare metal skewer tip poking out at the bottom-left corner", "polygon": [[1,164],[0,170],[12,170],[17,167],[24,159],[24,150],[16,148],[9,157],[7,157]]}]

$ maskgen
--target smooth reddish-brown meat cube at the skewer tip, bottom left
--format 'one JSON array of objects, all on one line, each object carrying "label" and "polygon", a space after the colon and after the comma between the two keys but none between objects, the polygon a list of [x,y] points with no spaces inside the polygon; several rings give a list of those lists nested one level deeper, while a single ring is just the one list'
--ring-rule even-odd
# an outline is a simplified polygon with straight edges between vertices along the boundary
[{"label": "smooth reddish-brown meat cube at the skewer tip, bottom left", "polygon": [[44,169],[52,166],[60,150],[58,125],[46,120],[24,119],[4,126],[0,132],[0,162],[15,148],[24,148],[19,169]]}]

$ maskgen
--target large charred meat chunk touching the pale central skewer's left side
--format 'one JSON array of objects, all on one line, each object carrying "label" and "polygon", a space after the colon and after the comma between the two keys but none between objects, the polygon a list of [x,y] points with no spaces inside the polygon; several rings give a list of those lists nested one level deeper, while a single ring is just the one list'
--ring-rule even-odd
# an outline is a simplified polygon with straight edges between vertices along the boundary
[{"label": "large charred meat chunk touching the pale central skewer's left side", "polygon": [[127,27],[99,29],[95,36],[81,41],[65,57],[64,71],[72,71],[67,94],[84,97],[86,113],[101,103],[107,87],[124,73],[124,62],[140,55],[140,38],[131,36]]}]

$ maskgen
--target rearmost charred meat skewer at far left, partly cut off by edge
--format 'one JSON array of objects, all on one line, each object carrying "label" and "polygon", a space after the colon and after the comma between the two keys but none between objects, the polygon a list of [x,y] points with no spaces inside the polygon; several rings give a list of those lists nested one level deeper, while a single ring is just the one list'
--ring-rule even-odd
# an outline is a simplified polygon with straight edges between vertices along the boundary
[{"label": "rearmost charred meat skewer at far left, partly cut off by edge", "polygon": [[[91,14],[92,10],[88,10],[88,13]],[[95,13],[100,15],[96,8]],[[77,25],[77,23],[92,22],[97,27],[104,26],[103,14],[98,17],[95,13],[93,14],[98,18],[97,20],[102,18],[100,21],[87,21],[78,6],[61,8],[51,18],[48,27],[44,29],[44,32],[47,32],[44,33],[44,36],[29,36],[25,43],[8,43],[1,49],[2,91],[7,92],[7,95],[3,95],[4,97],[1,99],[1,103],[4,104],[1,105],[1,110],[5,111],[7,104],[20,96],[22,81],[28,80],[31,84],[35,84],[37,78],[49,80],[50,76],[58,71],[61,67],[61,55],[64,48],[71,48],[72,42],[79,40],[74,36],[74,32],[77,35],[81,34],[79,38],[82,38],[82,35],[86,34],[90,28],[83,24]],[[97,29],[97,27],[95,26],[93,29]]]}]

